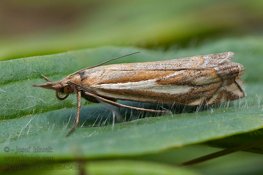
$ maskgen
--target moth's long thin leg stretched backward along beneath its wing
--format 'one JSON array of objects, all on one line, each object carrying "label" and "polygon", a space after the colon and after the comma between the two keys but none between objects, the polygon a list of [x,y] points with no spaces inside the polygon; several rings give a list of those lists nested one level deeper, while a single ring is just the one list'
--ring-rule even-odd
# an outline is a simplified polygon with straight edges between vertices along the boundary
[{"label": "moth's long thin leg stretched backward along beneath its wing", "polygon": [[85,92],[85,95],[96,97],[96,98],[104,101],[105,103],[111,104],[111,105],[119,107],[119,108],[136,109],[139,111],[154,112],[154,113],[169,113],[169,111],[159,111],[159,110],[153,110],[153,109],[143,109],[143,108],[136,108],[136,107],[132,107],[132,106],[126,106],[124,104],[116,103],[114,101],[110,101],[110,100],[107,100],[105,98],[99,97],[97,95],[91,94],[89,92]]}]

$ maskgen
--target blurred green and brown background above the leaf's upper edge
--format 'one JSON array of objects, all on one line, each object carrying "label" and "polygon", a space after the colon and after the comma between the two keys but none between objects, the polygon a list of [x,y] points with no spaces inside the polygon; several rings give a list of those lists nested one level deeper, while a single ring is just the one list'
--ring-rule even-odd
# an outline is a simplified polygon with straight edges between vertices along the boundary
[{"label": "blurred green and brown background above the leaf's upper edge", "polygon": [[261,0],[2,0],[0,60],[104,45],[195,47],[222,37],[261,35],[262,9]]}]

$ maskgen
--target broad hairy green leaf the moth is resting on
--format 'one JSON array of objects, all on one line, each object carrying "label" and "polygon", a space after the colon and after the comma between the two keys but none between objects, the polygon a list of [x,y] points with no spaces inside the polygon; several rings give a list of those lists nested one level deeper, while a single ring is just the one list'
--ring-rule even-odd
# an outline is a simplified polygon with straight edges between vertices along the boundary
[{"label": "broad hairy green leaf the moth is resting on", "polygon": [[[103,160],[160,153],[167,149],[250,132],[263,127],[262,73],[263,44],[260,37],[227,38],[195,49],[152,51],[134,47],[100,47],[0,62],[0,155],[17,156],[18,148],[28,148],[27,156],[55,157],[55,161]],[[242,44],[246,43],[246,44]],[[110,105],[87,104],[82,100],[80,125],[69,137],[76,116],[76,97],[58,101],[51,90],[32,87],[44,83],[44,74],[54,81],[68,74],[109,60],[141,51],[111,62],[147,62],[226,51],[236,52],[234,62],[247,67],[244,76],[248,97],[210,107],[177,106],[177,113],[158,116],[126,109],[114,111]],[[74,66],[72,66],[74,65]],[[149,104],[123,102],[128,105]],[[72,108],[74,107],[74,108]],[[157,106],[160,108],[160,105]],[[165,108],[171,106],[164,106]],[[174,106],[175,108],[175,106]],[[113,112],[114,111],[114,112]],[[113,120],[113,113],[115,117]],[[130,119],[131,118],[131,119]],[[140,118],[139,120],[134,120]],[[134,120],[131,122],[123,121]],[[119,123],[120,122],[120,123]],[[100,126],[100,127],[94,127]],[[33,147],[53,152],[34,153]],[[9,147],[9,152],[4,152]],[[14,151],[11,151],[14,149]],[[262,152],[260,152],[262,153]],[[8,162],[9,163],[9,162]],[[19,162],[11,162],[19,163]],[[10,163],[10,164],[11,164]],[[6,164],[3,159],[0,164]]]}]

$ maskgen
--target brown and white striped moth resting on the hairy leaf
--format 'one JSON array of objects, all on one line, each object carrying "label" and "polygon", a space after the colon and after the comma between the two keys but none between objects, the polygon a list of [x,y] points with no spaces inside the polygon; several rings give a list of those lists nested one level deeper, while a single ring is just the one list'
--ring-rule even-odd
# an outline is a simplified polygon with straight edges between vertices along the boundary
[{"label": "brown and white striped moth resting on the hairy leaf", "polygon": [[69,94],[77,93],[76,122],[68,132],[68,136],[79,122],[81,97],[94,103],[105,102],[119,108],[155,113],[169,111],[136,108],[115,101],[121,99],[153,104],[195,106],[245,97],[242,88],[244,83],[240,79],[245,68],[239,63],[232,62],[233,57],[233,52],[226,52],[166,61],[100,66],[111,61],[108,60],[81,69],[57,82],[52,82],[41,75],[49,82],[33,86],[55,90],[58,100],[64,100]]}]

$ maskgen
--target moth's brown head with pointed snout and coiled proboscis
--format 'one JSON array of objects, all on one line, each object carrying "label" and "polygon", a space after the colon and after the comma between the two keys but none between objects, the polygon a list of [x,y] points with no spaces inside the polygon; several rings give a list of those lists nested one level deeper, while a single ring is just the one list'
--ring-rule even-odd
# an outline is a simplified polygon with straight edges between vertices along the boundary
[{"label": "moth's brown head with pointed snout and coiled proboscis", "polygon": [[[56,82],[51,81],[51,82],[48,82],[45,84],[32,85],[32,86],[55,90],[57,99],[58,100],[64,100],[68,97],[69,94],[73,94],[73,93],[77,92],[76,86],[70,84],[70,81],[73,81],[72,77],[63,78],[62,80],[56,81]],[[64,95],[66,95],[66,96],[63,97]]]}]

